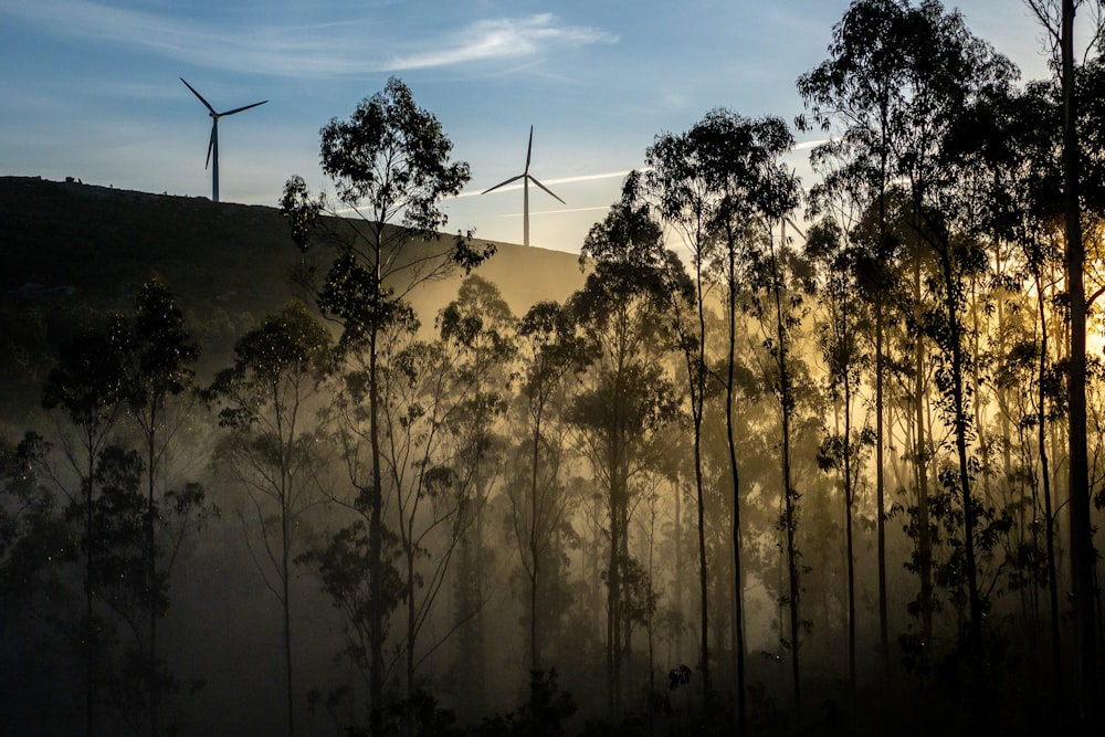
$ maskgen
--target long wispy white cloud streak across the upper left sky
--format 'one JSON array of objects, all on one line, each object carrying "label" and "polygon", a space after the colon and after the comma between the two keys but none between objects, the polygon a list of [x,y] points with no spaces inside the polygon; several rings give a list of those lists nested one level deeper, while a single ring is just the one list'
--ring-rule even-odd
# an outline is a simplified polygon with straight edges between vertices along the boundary
[{"label": "long wispy white cloud streak across the upper left sky", "polygon": [[[564,24],[550,13],[481,20],[448,32],[427,30],[419,38],[406,34],[404,41],[368,17],[228,28],[93,0],[15,0],[0,7],[2,15],[51,33],[126,44],[190,64],[296,77],[517,61],[555,48],[618,40],[600,29]],[[373,51],[366,54],[366,49]],[[427,49],[433,51],[421,51]]]}]

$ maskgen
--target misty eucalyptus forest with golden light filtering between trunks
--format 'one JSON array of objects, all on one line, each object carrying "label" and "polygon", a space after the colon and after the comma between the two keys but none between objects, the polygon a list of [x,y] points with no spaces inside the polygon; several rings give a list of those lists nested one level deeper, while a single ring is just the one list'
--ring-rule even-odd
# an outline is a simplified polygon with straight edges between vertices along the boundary
[{"label": "misty eucalyptus forest with golden light filtering between trunks", "polygon": [[0,425],[0,731],[1099,734],[1105,49],[1019,8],[855,0],[523,314],[410,88],[330,120],[220,370],[151,276]]}]

